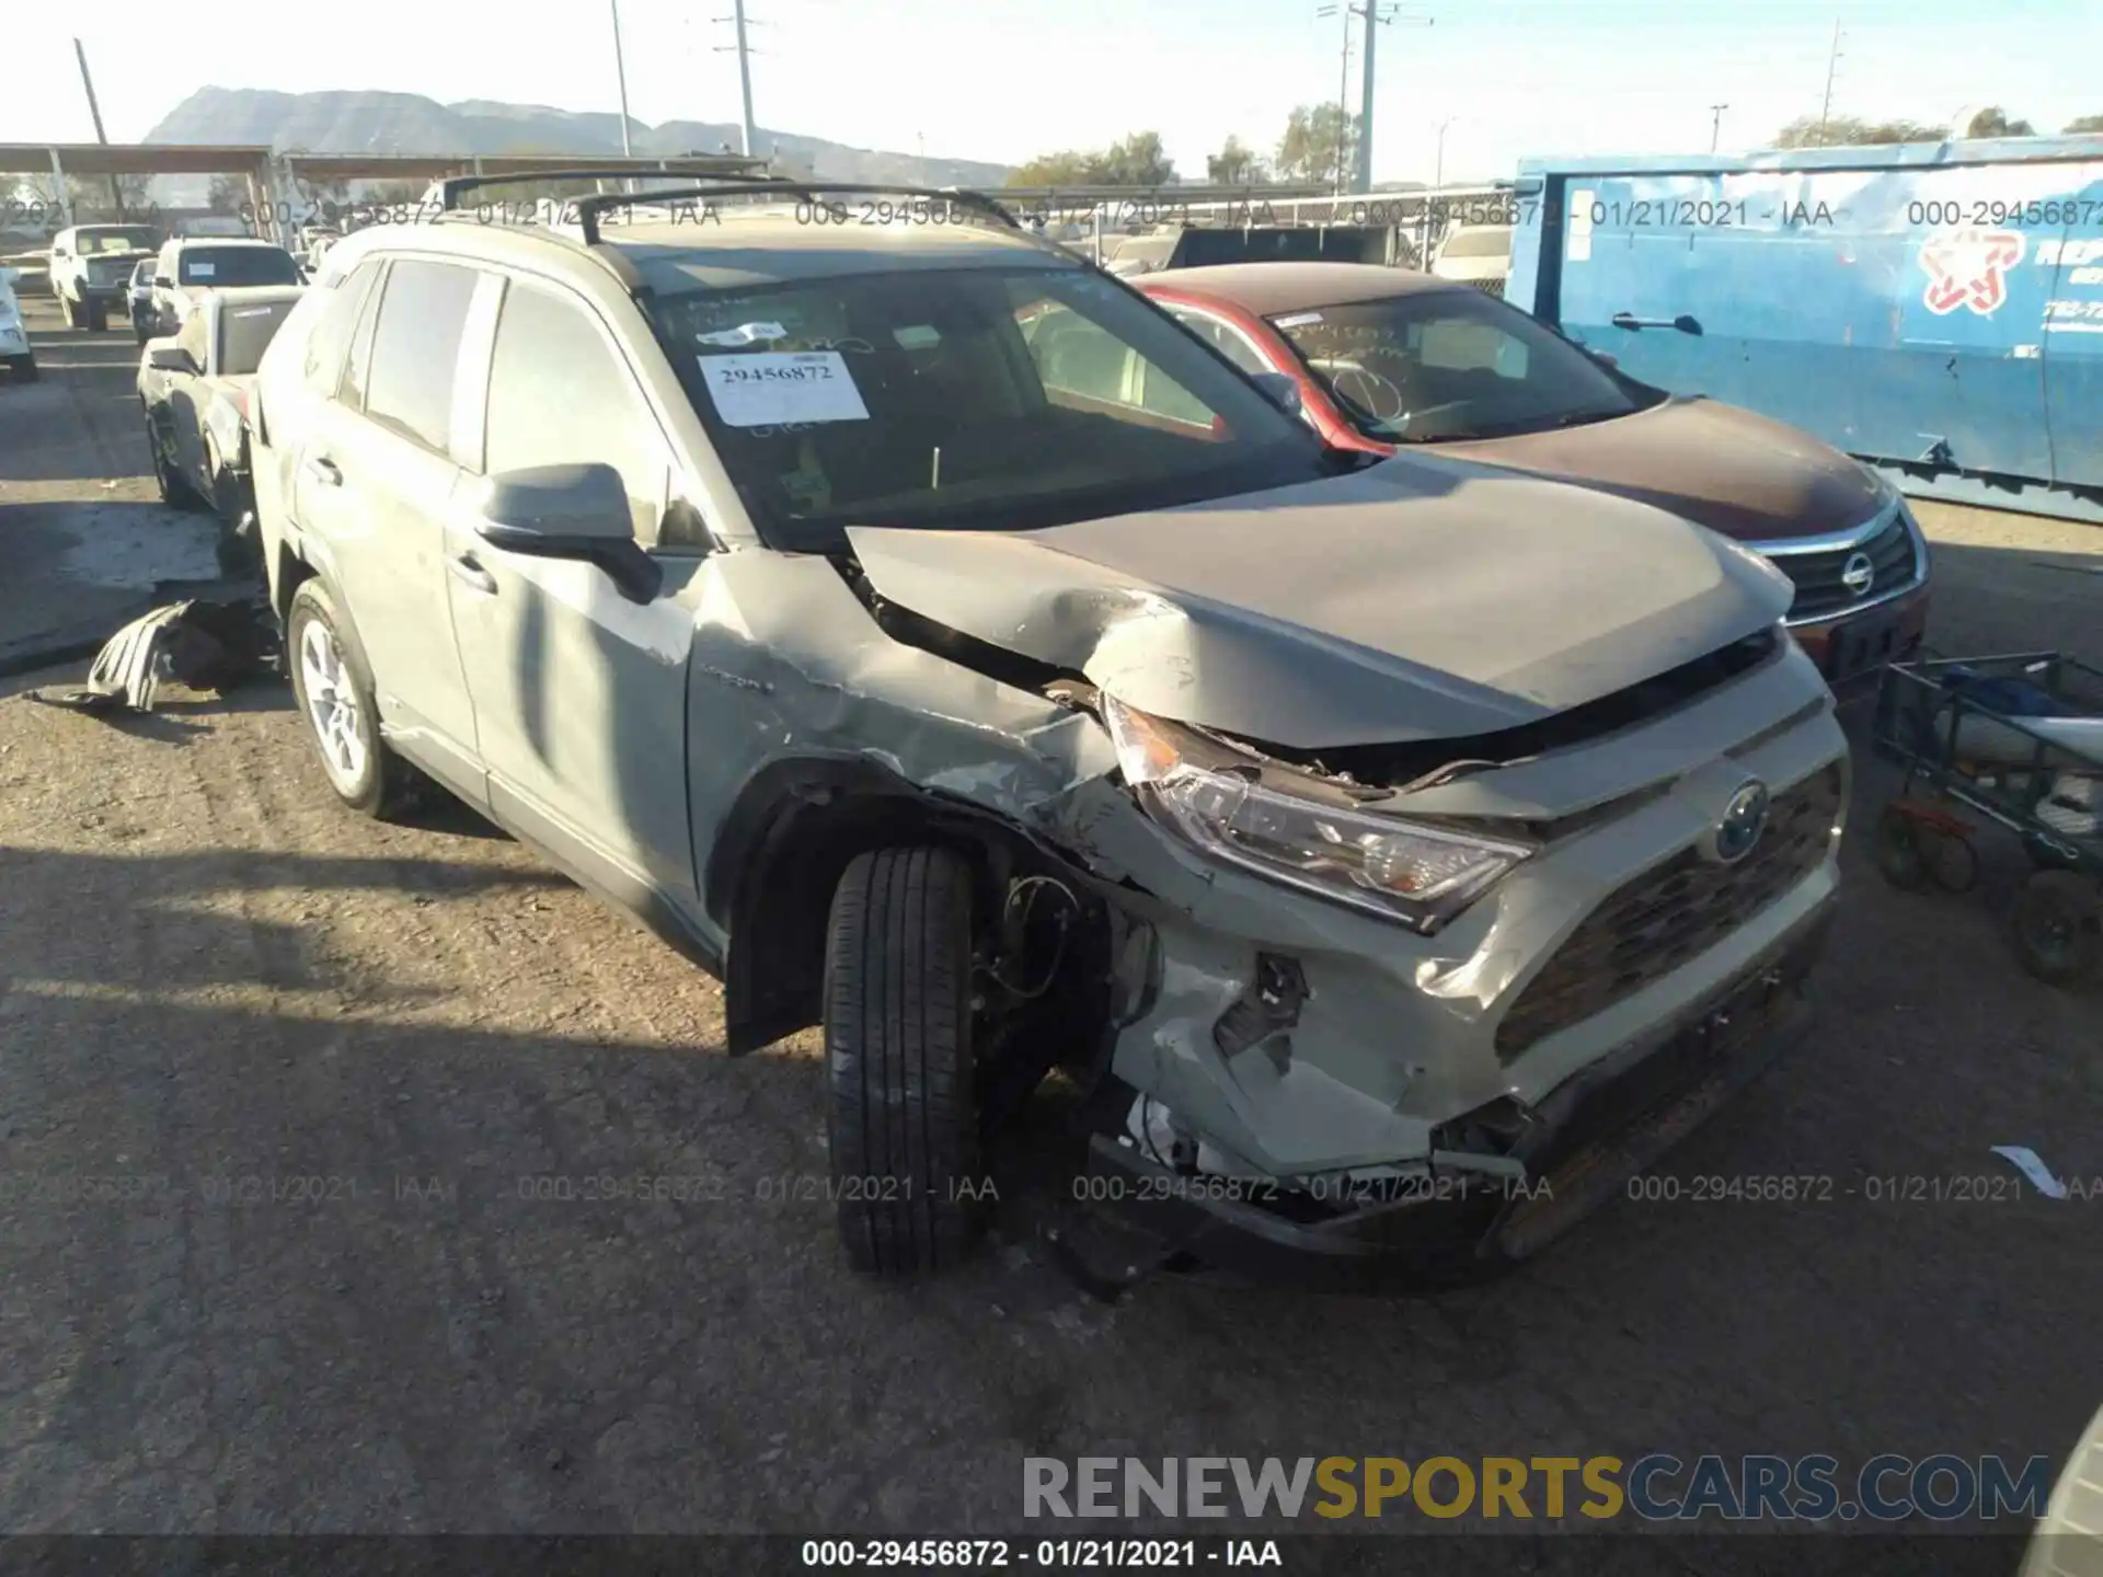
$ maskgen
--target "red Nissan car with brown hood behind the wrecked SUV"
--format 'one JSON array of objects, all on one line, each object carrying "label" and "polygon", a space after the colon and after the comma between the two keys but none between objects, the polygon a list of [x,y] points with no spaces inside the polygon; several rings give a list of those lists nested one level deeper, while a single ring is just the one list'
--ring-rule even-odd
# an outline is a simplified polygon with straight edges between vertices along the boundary
[{"label": "red Nissan car with brown hood behind the wrecked SUV", "polygon": [[1188,269],[1140,288],[1245,372],[1285,372],[1316,431],[1581,482],[1745,542],[1796,585],[1834,683],[1920,648],[1928,545],[1899,494],[1815,437],[1624,376],[1516,307],[1405,269]]}]

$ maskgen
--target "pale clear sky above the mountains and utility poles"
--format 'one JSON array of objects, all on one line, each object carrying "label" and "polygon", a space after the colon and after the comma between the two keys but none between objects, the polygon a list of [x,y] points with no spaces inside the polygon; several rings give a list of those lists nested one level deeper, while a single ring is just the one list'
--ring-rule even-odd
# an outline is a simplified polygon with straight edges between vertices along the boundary
[{"label": "pale clear sky above the mountains and utility poles", "polygon": [[[1014,164],[1159,130],[1186,179],[1230,135],[1268,149],[1295,103],[1335,99],[1342,23],[1321,0],[749,0],[761,126]],[[608,0],[145,0],[15,6],[0,23],[0,141],[93,141],[72,27],[111,139],[193,88],[379,88],[442,103],[618,107]],[[637,120],[738,118],[730,23],[620,0]],[[1945,120],[1998,103],[2059,130],[2103,114],[2103,0],[1407,0],[1380,32],[1373,175],[1508,175],[1525,153],[1754,147],[1817,111]],[[1428,17],[1430,25],[1409,17]],[[351,21],[355,19],[355,21]],[[1352,109],[1356,109],[1356,27]]]}]

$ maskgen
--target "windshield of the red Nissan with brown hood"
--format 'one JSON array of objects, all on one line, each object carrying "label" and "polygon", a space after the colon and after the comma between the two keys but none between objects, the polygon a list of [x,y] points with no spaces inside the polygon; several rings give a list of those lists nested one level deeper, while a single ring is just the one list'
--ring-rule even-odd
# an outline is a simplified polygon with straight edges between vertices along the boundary
[{"label": "windshield of the red Nissan with brown hood", "polygon": [[1272,320],[1367,437],[1438,444],[1607,421],[1663,395],[1481,290],[1424,290]]}]

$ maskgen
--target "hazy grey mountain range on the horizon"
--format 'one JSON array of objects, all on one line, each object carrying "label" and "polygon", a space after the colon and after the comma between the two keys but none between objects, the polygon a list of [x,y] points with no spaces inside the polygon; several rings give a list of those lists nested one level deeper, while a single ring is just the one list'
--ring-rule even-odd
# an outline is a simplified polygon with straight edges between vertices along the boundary
[{"label": "hazy grey mountain range on the horizon", "polygon": [[[755,128],[753,151],[776,156],[822,181],[904,185],[1001,185],[1007,166],[848,147],[822,137]],[[738,126],[717,120],[629,120],[637,156],[719,153],[738,147]],[[305,153],[620,153],[620,116],[547,105],[414,93],[269,93],[198,88],[162,116],[147,143],[261,145]]]}]

